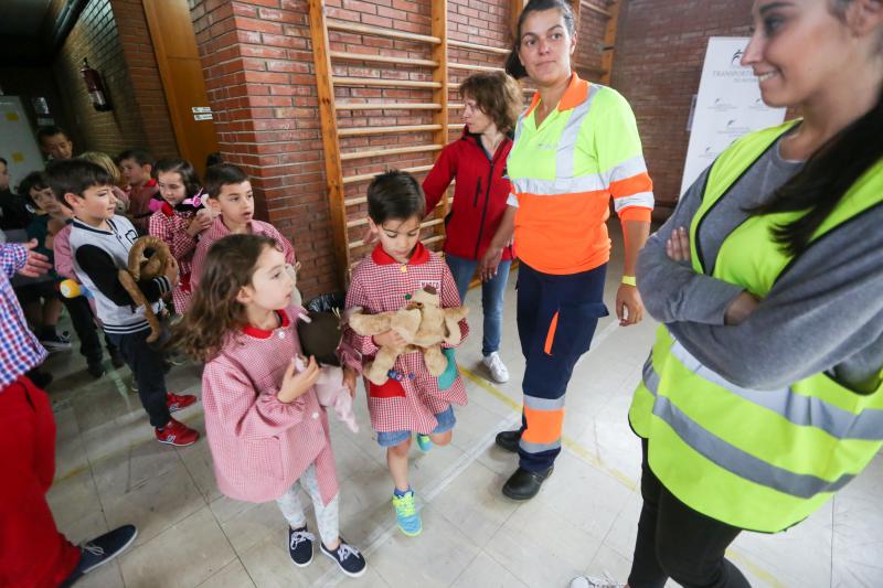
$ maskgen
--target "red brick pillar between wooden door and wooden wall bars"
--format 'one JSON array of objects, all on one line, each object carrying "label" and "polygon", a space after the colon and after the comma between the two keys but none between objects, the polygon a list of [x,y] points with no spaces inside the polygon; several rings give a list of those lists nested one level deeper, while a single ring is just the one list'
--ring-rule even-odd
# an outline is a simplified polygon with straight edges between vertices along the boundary
[{"label": "red brick pillar between wooden door and wooden wall bars", "polygon": [[306,0],[190,0],[224,159],[291,239],[305,296],[337,288]]}]

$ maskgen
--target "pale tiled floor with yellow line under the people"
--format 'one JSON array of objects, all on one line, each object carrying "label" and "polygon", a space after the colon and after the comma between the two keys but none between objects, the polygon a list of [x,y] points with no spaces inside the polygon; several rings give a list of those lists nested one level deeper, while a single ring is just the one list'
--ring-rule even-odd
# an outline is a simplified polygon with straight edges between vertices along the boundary
[{"label": "pale tiled floor with yellow line under the people", "polygon": [[[610,306],[618,266],[614,260],[608,272]],[[536,499],[519,505],[499,492],[515,459],[493,447],[493,435],[519,415],[523,362],[513,281],[501,352],[511,382],[482,378],[480,328],[474,329],[458,354],[469,405],[457,411],[454,442],[412,453],[413,484],[424,505],[419,537],[393,527],[392,484],[364,402],[357,403],[360,434],[332,423],[341,532],[369,560],[358,580],[345,579],[321,556],[308,568],[294,567],[276,505],[222,496],[204,438],[183,449],[153,441],[137,395],[128,392],[128,370],[96,383],[78,356],[53,356],[47,366],[56,374],[50,392],[58,439],[50,502],[58,525],[74,542],[127,522],[139,531],[132,548],[78,586],[555,588],[584,571],[625,578],[640,510],[640,446],[626,413],[655,324],[619,329],[611,319],[602,321],[571,383],[565,450],[555,475]],[[476,290],[467,302],[479,303]],[[200,393],[192,365],[174,368],[169,383],[175,392]],[[181,415],[204,431],[200,404]],[[780,535],[743,534],[730,555],[755,586],[883,586],[881,484],[879,456],[809,521]]]}]

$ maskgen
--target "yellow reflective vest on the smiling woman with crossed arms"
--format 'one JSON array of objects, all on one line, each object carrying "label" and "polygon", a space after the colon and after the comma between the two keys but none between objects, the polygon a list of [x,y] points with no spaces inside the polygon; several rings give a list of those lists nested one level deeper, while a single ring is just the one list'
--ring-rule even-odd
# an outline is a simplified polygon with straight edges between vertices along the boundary
[{"label": "yellow reflective vest on the smiling woman with crossed arms", "polygon": [[[696,228],[714,204],[795,121],[743,137],[712,165]],[[841,199],[813,235],[883,202],[883,161]],[[723,242],[713,276],[764,297],[792,260],[769,229],[801,212],[749,217]],[[649,464],[679,500],[741,528],[777,532],[809,516],[883,446],[883,384],[861,395],[825,373],[780,389],[747,389],[702,365],[664,325],[635,392],[629,420],[649,439]]]}]

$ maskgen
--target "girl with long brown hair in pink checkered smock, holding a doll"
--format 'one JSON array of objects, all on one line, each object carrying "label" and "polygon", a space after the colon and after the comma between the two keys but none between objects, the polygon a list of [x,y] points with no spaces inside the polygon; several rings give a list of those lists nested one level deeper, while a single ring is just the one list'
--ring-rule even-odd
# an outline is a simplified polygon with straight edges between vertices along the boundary
[{"label": "girl with long brown hair in pink checkered smock, holding a doll", "polygon": [[328,417],[313,389],[315,357],[297,372],[296,323],[285,256],[272,237],[231,235],[205,258],[200,288],[173,341],[205,362],[202,403],[217,488],[248,502],[275,500],[288,521],[289,555],[312,560],[315,536],[298,499],[312,500],[321,552],[348,576],[365,560],[338,534],[338,481]]}]

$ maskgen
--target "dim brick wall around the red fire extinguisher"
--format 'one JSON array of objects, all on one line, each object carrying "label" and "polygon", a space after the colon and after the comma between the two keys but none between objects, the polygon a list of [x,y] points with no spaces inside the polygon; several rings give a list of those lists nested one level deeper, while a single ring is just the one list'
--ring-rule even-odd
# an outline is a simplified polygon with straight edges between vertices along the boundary
[{"label": "dim brick wall around the red fire extinguisher", "polygon": [[[152,51],[140,1],[86,6],[52,66],[75,152],[143,146],[158,157],[178,153]],[[92,107],[79,75],[83,57],[102,74],[113,110]]]}]

